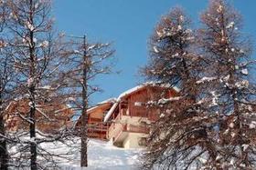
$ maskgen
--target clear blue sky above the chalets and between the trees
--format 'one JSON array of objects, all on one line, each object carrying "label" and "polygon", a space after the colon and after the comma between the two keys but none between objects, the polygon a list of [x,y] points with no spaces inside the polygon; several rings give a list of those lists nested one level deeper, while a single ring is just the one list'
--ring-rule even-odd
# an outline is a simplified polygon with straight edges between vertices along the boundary
[{"label": "clear blue sky above the chalets and between the trees", "polygon": [[[256,1],[231,0],[244,18],[244,32],[256,36]],[[138,68],[147,62],[147,41],[161,15],[180,5],[198,24],[198,15],[208,0],[55,0],[53,15],[59,31],[67,35],[88,35],[91,41],[113,42],[116,71],[96,80],[104,90],[93,95],[91,105],[132,88],[143,77]],[[255,55],[255,53],[254,53]]]}]

